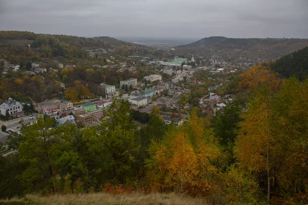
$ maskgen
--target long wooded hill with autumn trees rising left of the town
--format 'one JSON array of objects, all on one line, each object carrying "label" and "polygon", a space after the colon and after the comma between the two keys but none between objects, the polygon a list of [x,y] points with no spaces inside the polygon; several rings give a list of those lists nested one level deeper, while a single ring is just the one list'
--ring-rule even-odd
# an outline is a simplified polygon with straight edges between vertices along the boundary
[{"label": "long wooded hill with autumn trees rising left of the town", "polygon": [[[29,46],[31,52],[29,53]],[[101,49],[100,56],[105,57],[102,49],[110,49],[113,55],[129,56],[133,53],[145,53],[161,55],[153,48],[143,45],[124,42],[108,36],[94,38],[78,37],[71,35],[51,35],[36,34],[28,31],[0,31],[0,56],[7,56],[8,53],[14,53],[16,60],[12,64],[20,61],[24,56],[38,55],[44,58],[62,56],[65,58],[89,58],[89,50]],[[13,59],[13,58],[12,58]]]}]

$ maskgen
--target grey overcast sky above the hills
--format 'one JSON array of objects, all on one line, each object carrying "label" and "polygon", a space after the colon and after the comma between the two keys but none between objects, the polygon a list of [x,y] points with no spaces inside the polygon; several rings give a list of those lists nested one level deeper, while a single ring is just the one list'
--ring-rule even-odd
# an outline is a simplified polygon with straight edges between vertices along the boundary
[{"label": "grey overcast sky above the hills", "polygon": [[0,30],[87,37],[308,38],[308,0],[0,0]]}]

